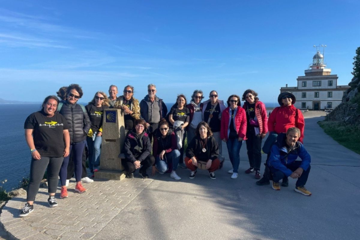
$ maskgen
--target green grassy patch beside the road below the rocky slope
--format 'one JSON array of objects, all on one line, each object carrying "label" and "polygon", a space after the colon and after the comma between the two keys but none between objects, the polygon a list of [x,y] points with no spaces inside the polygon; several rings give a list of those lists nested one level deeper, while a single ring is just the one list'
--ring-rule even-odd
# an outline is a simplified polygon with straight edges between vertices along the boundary
[{"label": "green grassy patch beside the road below the rocky slope", "polygon": [[339,144],[360,154],[360,126],[347,125],[340,121],[321,121],[318,124]]}]

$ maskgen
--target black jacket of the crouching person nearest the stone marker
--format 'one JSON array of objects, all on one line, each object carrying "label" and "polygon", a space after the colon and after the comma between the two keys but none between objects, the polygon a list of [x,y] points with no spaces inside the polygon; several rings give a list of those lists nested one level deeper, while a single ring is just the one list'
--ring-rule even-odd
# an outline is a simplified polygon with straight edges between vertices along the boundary
[{"label": "black jacket of the crouching person nearest the stone marker", "polygon": [[134,163],[136,160],[142,162],[151,154],[151,142],[148,134],[143,131],[137,135],[135,130],[129,131],[124,142],[125,159]]}]

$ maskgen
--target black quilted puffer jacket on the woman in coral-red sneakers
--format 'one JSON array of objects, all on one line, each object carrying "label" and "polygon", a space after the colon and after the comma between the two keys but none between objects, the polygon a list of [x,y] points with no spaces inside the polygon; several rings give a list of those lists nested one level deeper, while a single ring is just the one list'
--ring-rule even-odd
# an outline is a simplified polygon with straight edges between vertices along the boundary
[{"label": "black quilted puffer jacket on the woman in coral-red sneakers", "polygon": [[69,125],[70,143],[81,142],[86,139],[91,122],[87,113],[79,104],[63,103],[59,113],[65,117]]}]

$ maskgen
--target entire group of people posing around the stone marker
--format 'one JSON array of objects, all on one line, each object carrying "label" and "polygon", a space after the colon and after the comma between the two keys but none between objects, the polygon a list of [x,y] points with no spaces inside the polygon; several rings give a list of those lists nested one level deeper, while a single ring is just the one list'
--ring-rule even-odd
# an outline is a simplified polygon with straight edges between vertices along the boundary
[{"label": "entire group of people posing around the stone marker", "polygon": [[[152,167],[152,175],[170,173],[171,178],[181,180],[176,170],[183,167],[190,169],[189,178],[194,178],[198,169],[206,169],[210,178],[216,179],[215,171],[225,160],[223,141],[232,164],[228,173],[235,179],[245,140],[249,160],[245,173],[255,173],[255,178],[260,179],[261,151],[267,153],[265,172],[256,182],[258,185],[270,184],[272,180],[273,189],[280,190],[280,180],[282,186],[288,186],[287,177],[298,178],[295,191],[311,195],[305,188],[311,158],[302,145],[304,118],[293,106],[296,99],[290,92],[279,95],[280,107],[271,112],[269,119],[265,104],[251,89],[242,95],[243,106],[240,96],[230,95],[226,107],[215,90],[204,102],[203,92],[195,90],[189,104],[185,95],[180,94],[169,112],[156,93],[156,86],[149,84],[148,94],[139,102],[133,96],[134,87],[127,85],[123,95],[117,97],[117,86],[111,85],[109,96],[98,91],[85,107],[77,104],[83,95],[77,84],[60,88],[57,92],[60,99],[47,96],[42,109],[28,116],[24,124],[32,159],[27,203],[19,216],[33,211],[33,201],[46,169],[50,207],[58,205],[55,199],[58,176],[60,198],[68,197],[67,186],[73,175],[75,191],[86,191],[82,182],[93,180],[87,177],[85,160],[89,160],[92,174],[99,171],[106,108],[122,109],[124,113],[125,159],[121,161],[128,178],[134,177],[136,169],[141,177],[147,178],[147,169]],[[261,148],[268,131],[270,134]],[[184,152],[185,139],[188,146]],[[295,161],[298,156],[302,161]]]}]

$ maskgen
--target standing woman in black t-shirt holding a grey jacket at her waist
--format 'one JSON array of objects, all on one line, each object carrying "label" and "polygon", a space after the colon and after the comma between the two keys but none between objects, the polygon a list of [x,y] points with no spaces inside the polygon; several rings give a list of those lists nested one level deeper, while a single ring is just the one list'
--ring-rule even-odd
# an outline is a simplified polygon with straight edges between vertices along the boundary
[{"label": "standing woman in black t-shirt holding a grey jacket at her waist", "polygon": [[[176,124],[176,121],[180,121],[183,123]],[[185,143],[185,137],[186,132],[185,128],[188,126],[190,121],[190,112],[189,109],[186,108],[186,97],[183,94],[177,95],[176,98],[176,104],[172,106],[170,112],[169,112],[169,122],[172,125],[175,134],[177,135],[177,139],[180,142],[181,141],[181,148],[180,151],[180,160],[179,160],[179,166],[182,168],[186,168],[186,165],[184,164],[184,143]],[[175,124],[174,124],[175,123]]]}]

